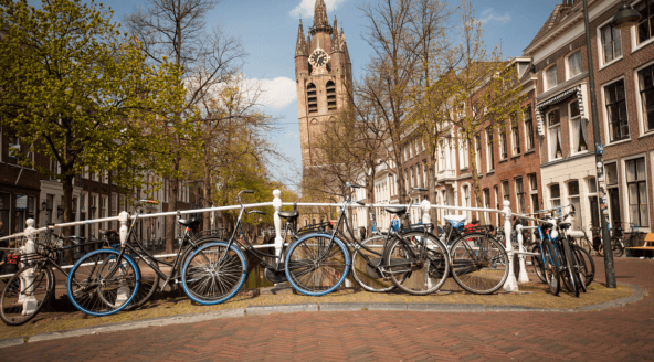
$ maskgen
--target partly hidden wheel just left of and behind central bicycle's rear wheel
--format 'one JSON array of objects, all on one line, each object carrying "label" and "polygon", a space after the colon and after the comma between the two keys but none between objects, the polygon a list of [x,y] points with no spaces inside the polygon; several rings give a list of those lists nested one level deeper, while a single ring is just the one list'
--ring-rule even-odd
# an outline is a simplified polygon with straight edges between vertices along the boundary
[{"label": "partly hidden wheel just left of and behind central bicycle's rear wheel", "polygon": [[383,278],[377,267],[382,260],[384,236],[372,236],[352,253],[352,276],[368,291],[390,291],[395,288],[390,278]]}]

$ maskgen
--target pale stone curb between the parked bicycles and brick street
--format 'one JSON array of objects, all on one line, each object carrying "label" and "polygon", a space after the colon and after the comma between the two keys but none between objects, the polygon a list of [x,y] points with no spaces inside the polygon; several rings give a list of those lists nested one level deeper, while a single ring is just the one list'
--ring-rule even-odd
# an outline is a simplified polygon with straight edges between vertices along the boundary
[{"label": "pale stone curb between the parked bicycles and brick street", "polygon": [[80,337],[97,333],[107,333],[115,331],[124,331],[148,327],[164,327],[170,324],[194,323],[205,320],[214,320],[221,318],[238,318],[247,316],[265,316],[273,313],[295,313],[295,312],[329,312],[329,311],[425,311],[425,312],[580,312],[580,311],[598,311],[614,307],[622,307],[629,304],[636,302],[643,299],[647,291],[639,286],[620,283],[620,285],[629,287],[633,294],[629,297],[616,300],[605,301],[598,305],[578,307],[576,309],[549,309],[539,307],[526,306],[496,306],[496,305],[479,305],[479,304],[402,304],[402,302],[327,302],[327,304],[300,304],[300,305],[273,305],[273,306],[252,306],[247,308],[234,308],[226,310],[210,311],[205,313],[179,315],[169,317],[159,317],[151,319],[143,319],[134,322],[120,322],[105,326],[86,327],[65,331],[45,332],[34,334],[32,337],[17,337],[0,340],[0,348],[19,345],[23,343],[32,343],[40,341],[48,341],[54,339]]}]

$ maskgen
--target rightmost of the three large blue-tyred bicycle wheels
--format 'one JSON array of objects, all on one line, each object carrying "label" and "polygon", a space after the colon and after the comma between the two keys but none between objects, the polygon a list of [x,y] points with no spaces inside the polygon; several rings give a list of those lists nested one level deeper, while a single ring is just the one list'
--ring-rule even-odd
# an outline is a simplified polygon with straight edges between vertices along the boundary
[{"label": "rightmost of the three large blue-tyred bicycle wheels", "polygon": [[324,296],[338,288],[349,272],[345,244],[336,236],[308,234],[288,248],[284,267],[288,283],[307,296]]}]

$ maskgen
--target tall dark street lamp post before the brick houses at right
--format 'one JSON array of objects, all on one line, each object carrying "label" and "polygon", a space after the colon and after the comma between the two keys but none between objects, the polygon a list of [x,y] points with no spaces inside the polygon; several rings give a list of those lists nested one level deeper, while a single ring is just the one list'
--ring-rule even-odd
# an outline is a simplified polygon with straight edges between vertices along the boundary
[{"label": "tall dark street lamp post before the brick houses at right", "polygon": [[[618,13],[612,19],[612,25],[615,28],[631,28],[637,24],[641,14],[634,10],[624,0],[618,9]],[[595,181],[598,183],[599,204],[600,204],[600,221],[602,223],[602,243],[604,244],[604,268],[606,269],[606,287],[615,288],[615,266],[613,265],[613,251],[611,247],[611,235],[609,234],[609,223],[606,207],[606,190],[604,189],[604,162],[602,161],[602,153],[604,152],[602,141],[600,140],[600,120],[598,117],[598,102],[595,97],[595,77],[592,63],[592,51],[590,42],[590,25],[588,21],[588,0],[583,0],[583,22],[586,25],[586,50],[588,52],[588,82],[590,87],[590,104],[593,119],[593,138],[595,142],[595,167],[598,168],[598,175]]]}]

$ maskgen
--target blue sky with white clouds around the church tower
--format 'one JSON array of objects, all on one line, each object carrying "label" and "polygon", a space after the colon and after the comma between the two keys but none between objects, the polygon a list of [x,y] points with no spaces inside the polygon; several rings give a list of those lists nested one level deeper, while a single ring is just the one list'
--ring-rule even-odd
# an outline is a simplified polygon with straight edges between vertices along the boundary
[{"label": "blue sky with white clouds around the church tower", "polygon": [[[363,75],[371,49],[365,41],[366,20],[360,7],[377,0],[325,0],[329,22],[336,14],[352,62],[355,79]],[[458,0],[450,0],[457,4]],[[30,0],[30,3],[40,2]],[[146,7],[146,0],[104,0],[120,21]],[[472,0],[482,21],[484,40],[492,49],[500,46],[505,58],[520,56],[540,26],[561,0]],[[263,110],[279,119],[279,131],[268,135],[292,164],[276,164],[273,178],[293,187],[291,167],[302,166],[297,97],[295,88],[295,43],[302,18],[305,34],[313,25],[315,0],[222,0],[207,14],[207,26],[218,26],[226,34],[241,39],[249,56],[244,75],[261,82],[266,91]],[[209,29],[208,29],[209,30]]]}]

